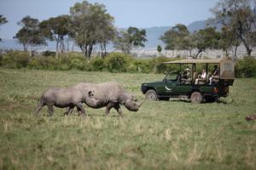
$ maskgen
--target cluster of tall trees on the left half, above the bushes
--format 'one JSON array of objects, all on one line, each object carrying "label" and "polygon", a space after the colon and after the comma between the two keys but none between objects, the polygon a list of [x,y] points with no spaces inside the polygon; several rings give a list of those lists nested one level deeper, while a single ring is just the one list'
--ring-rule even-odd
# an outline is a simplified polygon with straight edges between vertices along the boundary
[{"label": "cluster of tall trees on the left half, above the bushes", "polygon": [[[105,56],[109,42],[113,42],[114,47],[124,54],[130,54],[132,48],[144,47],[147,41],[146,31],[137,27],[118,31],[113,25],[113,16],[108,14],[103,4],[75,3],[69,13],[43,21],[26,16],[18,22],[21,28],[14,38],[23,45],[25,52],[47,45],[47,41],[55,42],[56,59],[59,54],[70,51],[69,42],[75,42],[84,56],[90,59],[94,50]],[[7,22],[0,15],[0,26]]]}]

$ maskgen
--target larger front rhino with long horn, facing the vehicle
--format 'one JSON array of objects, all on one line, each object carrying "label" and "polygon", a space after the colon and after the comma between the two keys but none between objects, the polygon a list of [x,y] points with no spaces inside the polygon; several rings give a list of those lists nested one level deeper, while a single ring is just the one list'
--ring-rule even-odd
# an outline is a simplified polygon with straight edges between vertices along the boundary
[{"label": "larger front rhino with long horn, facing the vehicle", "polygon": [[[117,82],[80,82],[76,88],[82,89],[88,92],[90,102],[85,102],[86,105],[94,109],[106,107],[105,114],[108,115],[109,111],[114,108],[118,111],[119,116],[122,116],[122,110],[120,105],[125,105],[125,108],[129,111],[138,111],[139,107],[143,105],[137,104],[137,99],[132,94],[129,94],[125,88],[122,88]],[[95,102],[96,101],[96,102]],[[96,104],[96,105],[95,105]]]}]

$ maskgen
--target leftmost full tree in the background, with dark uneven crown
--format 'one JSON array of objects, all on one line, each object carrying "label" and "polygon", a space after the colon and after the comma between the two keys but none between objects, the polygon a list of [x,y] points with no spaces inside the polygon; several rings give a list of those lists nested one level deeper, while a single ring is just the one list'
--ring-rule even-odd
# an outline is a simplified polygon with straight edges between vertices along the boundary
[{"label": "leftmost full tree in the background, with dark uneven crown", "polygon": [[32,51],[35,46],[46,44],[42,32],[39,29],[38,19],[26,16],[18,22],[18,25],[22,27],[14,38],[17,38],[23,45],[25,52],[27,52],[28,48],[31,48],[30,51]]}]

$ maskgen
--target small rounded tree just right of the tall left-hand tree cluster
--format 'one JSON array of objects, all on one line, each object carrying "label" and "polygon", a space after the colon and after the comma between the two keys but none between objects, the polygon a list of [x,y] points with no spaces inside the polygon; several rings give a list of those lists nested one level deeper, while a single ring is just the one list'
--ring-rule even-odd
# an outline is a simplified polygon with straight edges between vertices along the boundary
[{"label": "small rounded tree just right of the tall left-hand tree cluster", "polygon": [[114,48],[120,49],[124,54],[131,54],[132,48],[145,47],[147,42],[146,30],[139,30],[130,26],[127,31],[119,31],[114,41]]}]

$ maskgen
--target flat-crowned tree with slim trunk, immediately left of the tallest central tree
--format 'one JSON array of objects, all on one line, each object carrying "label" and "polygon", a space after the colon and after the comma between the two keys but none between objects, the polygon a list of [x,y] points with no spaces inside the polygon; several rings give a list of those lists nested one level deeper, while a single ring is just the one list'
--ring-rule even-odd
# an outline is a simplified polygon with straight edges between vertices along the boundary
[{"label": "flat-crowned tree with slim trunk, immediately left of the tallest central tree", "polygon": [[49,18],[49,20],[43,20],[40,23],[40,28],[44,33],[44,37],[49,39],[49,41],[56,42],[56,59],[58,59],[59,56],[60,45],[61,48],[64,48],[64,38],[70,33],[70,22],[71,19],[69,15],[61,15]]}]

